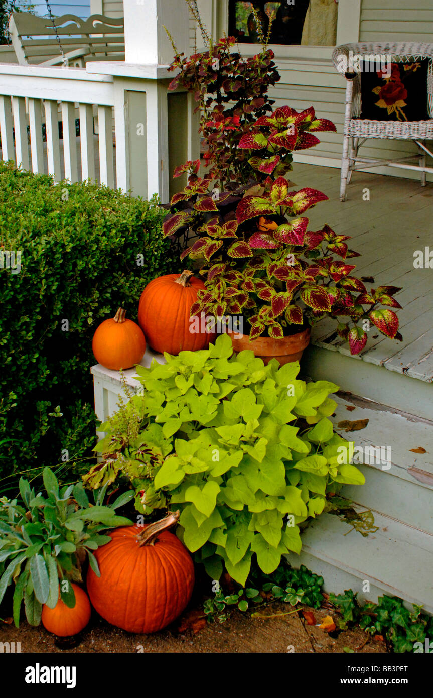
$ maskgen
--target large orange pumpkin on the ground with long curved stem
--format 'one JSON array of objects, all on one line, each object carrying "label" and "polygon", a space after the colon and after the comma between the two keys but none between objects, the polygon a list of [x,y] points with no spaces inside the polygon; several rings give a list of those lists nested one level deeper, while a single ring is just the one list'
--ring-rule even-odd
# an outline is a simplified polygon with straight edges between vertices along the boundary
[{"label": "large orange pumpkin on the ground with long curved stem", "polygon": [[183,543],[167,530],[179,512],[110,533],[95,552],[100,577],[89,568],[87,591],[106,621],[128,632],[155,632],[179,616],[190,600],[194,565]]}]

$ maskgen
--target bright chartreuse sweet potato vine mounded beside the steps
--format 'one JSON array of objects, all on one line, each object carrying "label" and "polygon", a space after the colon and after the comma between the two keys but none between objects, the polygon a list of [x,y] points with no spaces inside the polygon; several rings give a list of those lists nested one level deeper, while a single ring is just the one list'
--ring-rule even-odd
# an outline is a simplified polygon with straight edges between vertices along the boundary
[{"label": "bright chartreuse sweet potato vine mounded beside the steps", "polygon": [[298,380],[297,362],[234,355],[227,335],[165,358],[137,366],[144,394],[129,408],[138,426],[129,436],[116,430],[119,417],[103,427],[105,461],[86,484],[126,476],[145,514],[180,509],[177,533],[208,574],[219,579],[225,565],[245,584],[254,555],[268,574],[301,551],[299,525],[324,510],[327,491],[364,482],[337,457],[347,443],[328,419],[337,385]]}]

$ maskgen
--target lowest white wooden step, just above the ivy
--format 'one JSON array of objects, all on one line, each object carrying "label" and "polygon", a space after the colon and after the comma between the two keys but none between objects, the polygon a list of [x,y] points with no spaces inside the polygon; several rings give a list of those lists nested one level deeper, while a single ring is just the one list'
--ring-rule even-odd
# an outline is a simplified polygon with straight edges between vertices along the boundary
[{"label": "lowest white wooden step, just above the ivy", "polygon": [[[396,595],[433,614],[433,535],[383,514],[374,513],[374,523],[379,530],[363,537],[323,514],[303,532],[301,555],[289,555],[289,562],[321,574],[326,591],[351,588],[361,601]],[[363,591],[366,581],[370,591]]]}]

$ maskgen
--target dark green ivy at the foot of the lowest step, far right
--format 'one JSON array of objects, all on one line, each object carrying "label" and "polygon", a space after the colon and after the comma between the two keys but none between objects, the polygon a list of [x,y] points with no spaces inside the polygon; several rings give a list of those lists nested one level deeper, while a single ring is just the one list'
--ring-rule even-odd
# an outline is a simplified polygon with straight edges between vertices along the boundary
[{"label": "dark green ivy at the foot of the lowest step, far right", "polygon": [[[426,637],[433,637],[433,618],[423,614],[422,607],[413,604],[413,610],[409,611],[402,599],[386,595],[379,596],[377,604],[369,601],[360,606],[357,595],[351,589],[344,594],[329,595],[331,603],[342,614],[341,629],[356,624],[372,635],[380,634],[396,653],[424,651]],[[416,642],[420,642],[422,648],[418,646],[414,650]]]}]

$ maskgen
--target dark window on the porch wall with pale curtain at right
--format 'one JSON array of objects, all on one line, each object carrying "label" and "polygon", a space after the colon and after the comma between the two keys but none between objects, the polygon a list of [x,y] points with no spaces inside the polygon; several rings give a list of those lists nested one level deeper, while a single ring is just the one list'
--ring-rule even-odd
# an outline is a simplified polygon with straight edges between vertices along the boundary
[{"label": "dark window on the porch wall with pale curtain at right", "polygon": [[239,43],[259,43],[253,6],[259,13],[265,35],[269,17],[275,13],[271,44],[335,45],[337,0],[229,0],[229,36],[236,36]]}]

